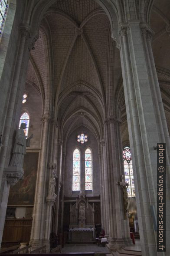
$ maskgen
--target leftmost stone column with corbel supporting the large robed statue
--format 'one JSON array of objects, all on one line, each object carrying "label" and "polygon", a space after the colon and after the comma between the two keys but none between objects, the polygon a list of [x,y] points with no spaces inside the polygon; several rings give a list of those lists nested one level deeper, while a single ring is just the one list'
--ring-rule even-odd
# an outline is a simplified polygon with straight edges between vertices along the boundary
[{"label": "leftmost stone column with corbel supporting the large robed statue", "polygon": [[2,201],[0,202],[0,245],[3,235],[3,226],[5,222],[10,185],[16,183],[23,176],[24,173],[22,168],[10,168],[10,170],[6,168],[5,170],[5,164],[7,164],[7,158],[9,158],[8,147],[10,141],[10,131],[13,122],[16,100],[18,100],[17,92],[20,88],[22,67],[26,64],[26,61],[28,61],[29,36],[29,26],[27,24],[21,24],[18,53],[16,56],[16,64],[14,67],[14,73],[11,81],[10,100],[8,104],[3,132],[3,145],[0,145],[2,146],[0,151],[0,198],[2,199]]}]

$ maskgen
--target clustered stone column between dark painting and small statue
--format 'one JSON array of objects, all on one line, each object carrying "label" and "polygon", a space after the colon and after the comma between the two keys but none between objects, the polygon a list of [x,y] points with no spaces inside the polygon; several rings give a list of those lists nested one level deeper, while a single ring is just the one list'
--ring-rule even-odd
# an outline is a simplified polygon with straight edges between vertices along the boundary
[{"label": "clustered stone column between dark painting and small statue", "polygon": [[[39,158],[37,182],[36,182],[36,193],[34,200],[33,209],[33,223],[31,229],[30,244],[33,248],[41,246],[44,239],[45,232],[45,217],[46,217],[46,196],[47,182],[49,174],[47,171],[48,163],[48,142],[49,142],[49,115],[42,116],[42,138],[41,138],[41,152]],[[47,178],[48,177],[48,178]]]}]

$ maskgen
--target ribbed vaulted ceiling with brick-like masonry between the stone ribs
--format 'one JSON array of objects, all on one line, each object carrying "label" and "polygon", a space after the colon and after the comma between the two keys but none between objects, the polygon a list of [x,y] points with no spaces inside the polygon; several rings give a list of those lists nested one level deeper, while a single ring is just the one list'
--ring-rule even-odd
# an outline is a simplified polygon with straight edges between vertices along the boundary
[{"label": "ribbed vaulted ceiling with brick-like masonry between the stone ribs", "polygon": [[[169,20],[169,1],[155,0],[150,21],[155,33],[152,47],[170,121]],[[114,95],[124,101],[119,51],[104,10],[95,0],[56,0],[42,19],[34,47],[27,81],[39,88],[43,108],[49,99],[58,118],[59,137],[65,139],[72,129],[84,125],[98,141],[102,139],[103,121],[117,104]],[[122,139],[128,141],[125,103],[121,105]]]}]

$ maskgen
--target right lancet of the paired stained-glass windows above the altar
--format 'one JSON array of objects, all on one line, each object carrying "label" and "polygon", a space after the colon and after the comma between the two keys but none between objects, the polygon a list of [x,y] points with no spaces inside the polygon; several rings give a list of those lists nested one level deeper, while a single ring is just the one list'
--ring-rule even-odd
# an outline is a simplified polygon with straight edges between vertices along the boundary
[{"label": "right lancet of the paired stained-glass windows above the altar", "polygon": [[85,190],[92,190],[92,152],[85,151]]}]

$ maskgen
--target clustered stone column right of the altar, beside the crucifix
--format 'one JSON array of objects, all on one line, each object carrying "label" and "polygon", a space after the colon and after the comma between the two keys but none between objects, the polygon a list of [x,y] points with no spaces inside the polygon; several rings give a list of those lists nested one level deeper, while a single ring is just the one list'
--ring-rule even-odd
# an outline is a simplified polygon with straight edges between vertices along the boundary
[{"label": "clustered stone column right of the altar, beside the crucifix", "polygon": [[131,244],[130,231],[127,223],[124,222],[124,209],[122,192],[117,185],[122,175],[122,168],[120,158],[122,152],[119,150],[118,129],[120,125],[114,117],[105,120],[105,145],[106,145],[106,172],[107,172],[107,185],[106,195],[108,196],[108,217],[109,217],[109,248],[115,250],[121,246]]}]

